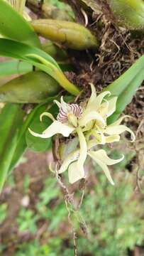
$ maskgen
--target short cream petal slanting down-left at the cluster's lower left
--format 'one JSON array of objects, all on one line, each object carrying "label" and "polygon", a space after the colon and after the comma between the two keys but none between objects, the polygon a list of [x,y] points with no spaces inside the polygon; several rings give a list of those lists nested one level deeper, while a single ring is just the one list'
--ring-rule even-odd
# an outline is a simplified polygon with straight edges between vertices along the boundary
[{"label": "short cream petal slanting down-left at the cluster's lower left", "polygon": [[79,150],[72,151],[66,159],[63,161],[62,165],[60,166],[60,169],[58,171],[59,174],[62,174],[62,172],[67,171],[68,166],[73,162],[76,161],[79,157]]}]

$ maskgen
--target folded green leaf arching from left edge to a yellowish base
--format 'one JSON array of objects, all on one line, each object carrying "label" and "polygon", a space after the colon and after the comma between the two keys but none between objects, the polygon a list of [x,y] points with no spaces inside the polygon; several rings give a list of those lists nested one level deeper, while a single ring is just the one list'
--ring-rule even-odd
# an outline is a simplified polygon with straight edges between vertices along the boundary
[{"label": "folded green leaf arching from left edge to a yellowish base", "polygon": [[1,38],[0,55],[26,60],[28,63],[31,63],[40,70],[43,70],[45,73],[48,73],[48,75],[51,75],[52,78],[57,80],[57,82],[59,82],[60,85],[72,95],[79,94],[79,89],[67,80],[65,75],[62,73],[62,70],[60,70],[57,62],[43,50]]}]

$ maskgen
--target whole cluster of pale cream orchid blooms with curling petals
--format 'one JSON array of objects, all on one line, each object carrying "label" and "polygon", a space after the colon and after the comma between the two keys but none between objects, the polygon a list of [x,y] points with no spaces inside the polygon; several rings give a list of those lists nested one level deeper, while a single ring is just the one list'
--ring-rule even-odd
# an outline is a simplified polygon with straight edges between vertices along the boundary
[{"label": "whole cluster of pale cream orchid blooms with curling petals", "polygon": [[[91,88],[92,95],[86,107],[81,107],[77,104],[67,104],[63,100],[63,97],[61,97],[61,102],[55,100],[55,103],[59,107],[57,119],[54,119],[52,114],[44,112],[40,115],[40,121],[46,115],[52,119],[52,124],[42,134],[37,134],[31,131],[31,129],[29,131],[33,136],[41,138],[50,138],[55,134],[62,134],[63,137],[69,137],[70,134],[77,135],[79,149],[68,154],[58,170],[59,174],[61,174],[68,169],[70,183],[85,178],[84,162],[88,155],[96,164],[101,166],[101,169],[104,170],[111,184],[114,184],[107,166],[117,164],[123,160],[124,156],[121,159],[113,160],[107,156],[104,149],[95,151],[93,148],[99,144],[119,142],[120,134],[125,131],[131,133],[132,141],[135,139],[135,135],[131,129],[125,125],[121,125],[121,121],[126,116],[121,117],[111,125],[106,124],[106,118],[116,110],[117,97],[107,100],[111,95],[110,92],[102,92],[96,96],[94,85],[91,85]],[[105,97],[106,99],[104,99]]]}]

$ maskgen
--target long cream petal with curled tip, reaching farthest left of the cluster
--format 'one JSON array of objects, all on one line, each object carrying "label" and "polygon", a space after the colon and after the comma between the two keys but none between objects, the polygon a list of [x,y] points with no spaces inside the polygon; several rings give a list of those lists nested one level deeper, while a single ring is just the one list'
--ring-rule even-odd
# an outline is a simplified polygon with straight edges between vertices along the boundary
[{"label": "long cream petal with curled tip, reaching farthest left of the cluster", "polygon": [[31,129],[28,130],[33,136],[40,138],[50,138],[55,134],[62,134],[64,137],[69,137],[74,131],[74,127],[69,124],[62,124],[61,122],[54,121],[42,134],[35,133]]}]

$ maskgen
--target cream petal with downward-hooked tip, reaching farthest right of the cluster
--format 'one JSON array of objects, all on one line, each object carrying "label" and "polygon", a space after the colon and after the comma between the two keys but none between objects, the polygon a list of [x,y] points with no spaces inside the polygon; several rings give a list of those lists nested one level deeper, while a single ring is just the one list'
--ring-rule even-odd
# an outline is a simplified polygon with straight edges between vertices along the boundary
[{"label": "cream petal with downward-hooked tip, reaching farthest right of the cluster", "polygon": [[113,134],[122,134],[123,132],[130,132],[131,133],[131,142],[134,142],[135,141],[135,134],[133,133],[133,131],[126,127],[126,125],[109,125],[105,130],[104,132],[106,134],[109,134],[109,135],[113,135]]}]

